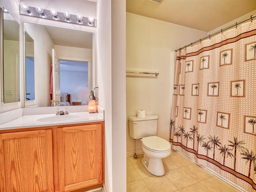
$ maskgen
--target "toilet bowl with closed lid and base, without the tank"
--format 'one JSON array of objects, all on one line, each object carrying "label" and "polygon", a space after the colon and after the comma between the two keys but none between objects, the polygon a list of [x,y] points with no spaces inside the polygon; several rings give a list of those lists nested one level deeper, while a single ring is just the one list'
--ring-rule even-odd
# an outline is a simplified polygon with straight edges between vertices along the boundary
[{"label": "toilet bowl with closed lid and base, without the tank", "polygon": [[141,139],[144,157],[142,164],[153,175],[165,174],[162,158],[171,154],[171,145],[168,141],[158,136],[150,136]]}]

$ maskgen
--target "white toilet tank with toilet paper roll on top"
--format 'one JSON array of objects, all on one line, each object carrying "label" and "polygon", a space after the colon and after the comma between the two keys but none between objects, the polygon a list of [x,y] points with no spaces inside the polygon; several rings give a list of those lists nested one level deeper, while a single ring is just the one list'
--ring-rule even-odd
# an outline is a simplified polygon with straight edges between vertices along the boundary
[{"label": "white toilet tank with toilet paper roll on top", "polygon": [[141,139],[157,134],[157,115],[146,115],[146,117],[130,116],[129,132],[133,139]]}]

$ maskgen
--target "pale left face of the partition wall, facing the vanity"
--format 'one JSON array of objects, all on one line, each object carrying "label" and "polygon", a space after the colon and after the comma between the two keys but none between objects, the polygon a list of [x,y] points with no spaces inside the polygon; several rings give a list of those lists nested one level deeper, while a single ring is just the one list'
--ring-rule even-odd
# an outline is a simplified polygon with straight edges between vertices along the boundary
[{"label": "pale left face of the partition wall, facing the vanity", "polygon": [[111,1],[97,4],[97,78],[99,105],[105,110],[105,187],[113,191],[111,107]]}]

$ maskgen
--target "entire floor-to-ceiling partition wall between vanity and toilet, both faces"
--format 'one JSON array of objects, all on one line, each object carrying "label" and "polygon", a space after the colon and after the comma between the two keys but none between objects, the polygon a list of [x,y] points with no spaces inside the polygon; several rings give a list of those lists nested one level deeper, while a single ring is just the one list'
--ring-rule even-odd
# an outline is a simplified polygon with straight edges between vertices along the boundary
[{"label": "entire floor-to-ceiling partition wall between vanity and toilet, both faces", "polygon": [[105,187],[126,191],[126,1],[97,2],[97,86],[105,109]]}]

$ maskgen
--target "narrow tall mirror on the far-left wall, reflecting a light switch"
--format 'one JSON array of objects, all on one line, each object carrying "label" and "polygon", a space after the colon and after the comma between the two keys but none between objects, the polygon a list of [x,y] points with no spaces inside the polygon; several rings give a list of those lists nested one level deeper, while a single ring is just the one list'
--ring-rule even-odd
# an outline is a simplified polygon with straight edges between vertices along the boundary
[{"label": "narrow tall mirror on the far-left wall, reflecting a light switch", "polygon": [[4,103],[20,101],[20,25],[3,14],[3,93]]}]

